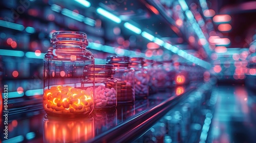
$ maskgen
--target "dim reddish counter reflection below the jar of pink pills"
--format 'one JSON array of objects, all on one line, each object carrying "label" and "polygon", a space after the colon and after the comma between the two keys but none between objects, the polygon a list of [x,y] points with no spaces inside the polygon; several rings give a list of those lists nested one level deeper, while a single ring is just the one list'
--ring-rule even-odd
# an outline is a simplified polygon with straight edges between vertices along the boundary
[{"label": "dim reddish counter reflection below the jar of pink pills", "polygon": [[92,112],[94,117],[94,126],[97,130],[96,133],[103,133],[117,125],[117,110],[94,110]]}]

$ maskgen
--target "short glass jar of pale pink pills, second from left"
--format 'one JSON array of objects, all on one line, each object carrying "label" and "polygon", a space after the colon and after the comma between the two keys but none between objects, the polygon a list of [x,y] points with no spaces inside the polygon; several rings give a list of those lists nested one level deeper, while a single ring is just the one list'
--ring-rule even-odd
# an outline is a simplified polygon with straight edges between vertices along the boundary
[{"label": "short glass jar of pale pink pills, second from left", "polygon": [[[86,65],[83,69],[84,79],[82,80],[82,88],[91,92],[94,97],[95,109],[112,108],[117,105],[117,80],[113,78],[115,75],[114,66],[111,64]],[[95,77],[94,77],[95,74]],[[90,85],[94,84],[94,92]]]}]

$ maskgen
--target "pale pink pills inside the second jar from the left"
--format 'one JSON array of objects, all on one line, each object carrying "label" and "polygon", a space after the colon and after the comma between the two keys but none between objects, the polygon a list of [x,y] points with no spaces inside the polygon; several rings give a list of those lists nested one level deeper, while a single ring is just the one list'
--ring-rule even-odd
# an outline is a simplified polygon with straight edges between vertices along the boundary
[{"label": "pale pink pills inside the second jar from the left", "polygon": [[[88,88],[88,91],[91,89]],[[94,103],[97,107],[115,107],[116,106],[116,90],[114,88],[106,88],[98,86],[95,88]]]}]

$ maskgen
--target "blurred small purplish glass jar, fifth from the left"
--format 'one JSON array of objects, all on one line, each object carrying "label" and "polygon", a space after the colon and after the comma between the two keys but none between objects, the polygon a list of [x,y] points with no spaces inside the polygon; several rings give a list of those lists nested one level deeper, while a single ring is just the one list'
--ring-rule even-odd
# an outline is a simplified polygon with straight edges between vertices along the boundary
[{"label": "blurred small purplish glass jar, fifth from the left", "polygon": [[166,71],[163,69],[162,62],[155,62],[153,64],[153,69],[155,73],[152,78],[152,84],[157,89],[157,91],[165,91],[166,86]]}]

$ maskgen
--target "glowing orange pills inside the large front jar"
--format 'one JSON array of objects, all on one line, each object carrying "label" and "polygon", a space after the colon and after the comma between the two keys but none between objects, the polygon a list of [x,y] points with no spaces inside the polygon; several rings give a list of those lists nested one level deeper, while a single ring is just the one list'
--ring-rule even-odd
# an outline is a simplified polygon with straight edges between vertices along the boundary
[{"label": "glowing orange pills inside the large front jar", "polygon": [[93,109],[91,93],[71,86],[52,86],[44,91],[44,109],[60,115],[87,114]]}]

